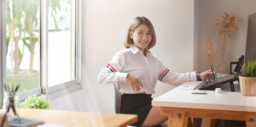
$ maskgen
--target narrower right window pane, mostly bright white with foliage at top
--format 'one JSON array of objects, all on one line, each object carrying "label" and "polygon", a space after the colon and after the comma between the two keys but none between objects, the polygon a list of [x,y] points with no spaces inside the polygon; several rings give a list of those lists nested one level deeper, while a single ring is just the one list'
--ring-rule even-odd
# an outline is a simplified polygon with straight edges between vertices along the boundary
[{"label": "narrower right window pane, mostly bright white with foliage at top", "polygon": [[[71,40],[71,5],[68,0],[50,0],[48,8],[48,87],[74,79],[75,53]],[[75,33],[75,32],[73,32]]]}]

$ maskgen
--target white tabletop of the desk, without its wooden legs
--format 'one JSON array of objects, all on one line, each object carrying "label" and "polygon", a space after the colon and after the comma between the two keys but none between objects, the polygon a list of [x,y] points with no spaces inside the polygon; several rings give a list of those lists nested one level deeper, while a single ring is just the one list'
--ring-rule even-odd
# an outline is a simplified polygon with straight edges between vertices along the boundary
[{"label": "white tabletop of the desk, without its wooden legs", "polygon": [[256,112],[256,96],[242,96],[238,82],[234,82],[235,92],[231,91],[229,83],[219,87],[222,89],[221,93],[216,93],[214,88],[204,90],[208,94],[190,94],[191,90],[179,90],[175,88],[153,99],[152,105]]}]

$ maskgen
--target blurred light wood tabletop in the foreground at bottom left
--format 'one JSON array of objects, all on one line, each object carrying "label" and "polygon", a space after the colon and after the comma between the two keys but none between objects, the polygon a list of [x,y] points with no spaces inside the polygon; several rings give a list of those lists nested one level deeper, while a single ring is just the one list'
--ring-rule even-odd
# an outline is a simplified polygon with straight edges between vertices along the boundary
[{"label": "blurred light wood tabletop in the foreground at bottom left", "polygon": [[[3,114],[3,109],[0,110]],[[69,127],[126,127],[138,120],[137,115],[101,114],[81,111],[19,108],[19,116]]]}]

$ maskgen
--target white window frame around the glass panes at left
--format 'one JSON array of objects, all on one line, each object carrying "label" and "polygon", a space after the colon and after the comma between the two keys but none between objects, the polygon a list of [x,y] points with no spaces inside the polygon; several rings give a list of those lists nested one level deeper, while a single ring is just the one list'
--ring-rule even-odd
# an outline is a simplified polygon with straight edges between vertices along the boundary
[{"label": "white window frame around the glass panes at left", "polygon": [[[72,45],[75,47],[76,55],[75,61],[72,63],[72,65],[75,65],[75,79],[53,86],[48,87],[47,84],[47,32],[48,32],[48,24],[47,24],[47,18],[48,18],[48,0],[40,0],[40,6],[41,6],[41,18],[40,18],[40,28],[41,28],[41,37],[40,37],[40,45],[41,45],[41,69],[40,69],[40,86],[36,89],[32,89],[29,91],[25,91],[19,94],[19,98],[21,101],[24,101],[28,96],[32,95],[40,95],[45,94],[47,96],[47,99],[54,100],[56,98],[59,98],[61,96],[65,96],[67,94],[73,93],[75,91],[79,91],[82,89],[81,87],[81,0],[70,0],[72,8],[75,7],[71,11],[72,13],[72,19],[75,20],[75,25],[71,26],[71,31],[75,31],[75,34],[71,37],[72,40],[74,39],[76,41],[75,45]],[[0,10],[0,70],[2,73],[0,73],[0,82],[3,85],[6,83],[6,1],[0,0],[1,10]],[[1,86],[2,86],[1,85]],[[3,86],[2,86],[3,87]],[[3,93],[2,87],[0,88],[1,94]],[[2,97],[2,96],[1,96]],[[1,101],[2,102],[2,101]],[[2,104],[2,103],[1,103]],[[2,105],[1,105],[2,106]]]}]

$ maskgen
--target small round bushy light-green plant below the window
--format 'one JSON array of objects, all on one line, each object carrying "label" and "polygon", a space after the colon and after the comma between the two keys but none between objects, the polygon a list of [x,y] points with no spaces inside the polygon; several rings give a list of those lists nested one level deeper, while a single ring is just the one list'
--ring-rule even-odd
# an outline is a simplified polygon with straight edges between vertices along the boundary
[{"label": "small round bushy light-green plant below the window", "polygon": [[34,94],[25,100],[25,105],[23,107],[31,109],[50,109],[50,104],[49,100],[46,100],[46,96],[43,94],[40,96]]}]

